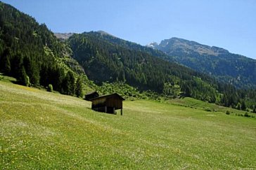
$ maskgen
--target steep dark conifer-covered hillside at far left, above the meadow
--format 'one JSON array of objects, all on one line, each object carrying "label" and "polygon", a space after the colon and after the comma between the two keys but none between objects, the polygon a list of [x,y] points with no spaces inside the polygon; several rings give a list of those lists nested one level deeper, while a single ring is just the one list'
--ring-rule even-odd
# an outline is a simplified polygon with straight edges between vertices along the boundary
[{"label": "steep dark conifer-covered hillside at far left, above the meadow", "polygon": [[[45,24],[0,2],[0,71],[23,85],[53,85],[63,94],[75,94],[81,66],[70,48],[58,41]],[[83,76],[85,78],[85,76]]]}]

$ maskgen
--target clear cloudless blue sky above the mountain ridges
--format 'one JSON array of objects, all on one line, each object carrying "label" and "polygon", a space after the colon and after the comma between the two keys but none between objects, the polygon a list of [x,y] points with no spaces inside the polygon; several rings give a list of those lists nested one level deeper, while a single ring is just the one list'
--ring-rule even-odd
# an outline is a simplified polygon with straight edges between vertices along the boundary
[{"label": "clear cloudless blue sky above the mountain ridges", "polygon": [[54,32],[107,31],[146,45],[179,37],[256,59],[255,0],[4,0]]}]

